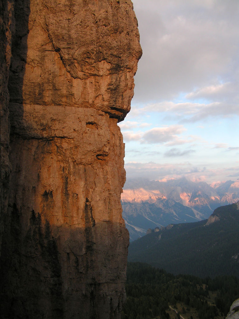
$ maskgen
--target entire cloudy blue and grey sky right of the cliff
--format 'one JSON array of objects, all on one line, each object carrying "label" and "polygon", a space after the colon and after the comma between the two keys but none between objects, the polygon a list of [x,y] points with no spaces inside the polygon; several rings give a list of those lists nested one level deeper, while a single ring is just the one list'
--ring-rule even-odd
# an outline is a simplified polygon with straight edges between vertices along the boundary
[{"label": "entire cloudy blue and grey sky right of the cliff", "polygon": [[126,177],[239,178],[239,0],[134,0],[143,51]]}]

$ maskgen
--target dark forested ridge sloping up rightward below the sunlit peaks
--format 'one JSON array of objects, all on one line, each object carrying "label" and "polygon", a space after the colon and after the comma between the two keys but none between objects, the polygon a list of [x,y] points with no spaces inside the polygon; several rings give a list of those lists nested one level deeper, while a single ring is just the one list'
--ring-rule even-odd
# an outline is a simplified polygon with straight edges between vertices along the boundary
[{"label": "dark forested ridge sloping up rightward below the sunlit peaks", "polygon": [[239,202],[218,207],[208,220],[156,228],[130,243],[128,261],[173,274],[239,277]]}]

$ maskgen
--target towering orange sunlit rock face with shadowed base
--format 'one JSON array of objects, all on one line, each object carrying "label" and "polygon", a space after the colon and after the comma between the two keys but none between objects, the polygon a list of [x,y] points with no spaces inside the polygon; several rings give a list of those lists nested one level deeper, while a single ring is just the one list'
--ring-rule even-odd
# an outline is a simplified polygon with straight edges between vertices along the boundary
[{"label": "towering orange sunlit rock face with shadowed base", "polygon": [[128,232],[117,122],[141,56],[130,0],[15,2],[2,318],[119,318]]}]

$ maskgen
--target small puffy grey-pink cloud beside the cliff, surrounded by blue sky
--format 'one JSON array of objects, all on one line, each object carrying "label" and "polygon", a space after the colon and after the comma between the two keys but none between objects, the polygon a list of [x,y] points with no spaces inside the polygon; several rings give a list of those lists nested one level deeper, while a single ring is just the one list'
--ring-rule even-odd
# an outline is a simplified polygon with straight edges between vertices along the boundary
[{"label": "small puffy grey-pink cloud beside the cliff, surrounded by blue sky", "polygon": [[146,143],[165,143],[177,138],[186,129],[182,125],[171,125],[168,127],[155,127],[145,132],[142,140]]}]

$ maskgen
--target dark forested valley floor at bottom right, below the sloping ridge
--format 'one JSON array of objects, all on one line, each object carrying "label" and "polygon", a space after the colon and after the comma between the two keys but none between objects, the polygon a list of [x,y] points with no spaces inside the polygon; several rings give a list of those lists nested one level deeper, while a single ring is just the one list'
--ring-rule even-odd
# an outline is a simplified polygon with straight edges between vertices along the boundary
[{"label": "dark forested valley floor at bottom right, below the sloping ridge", "polygon": [[239,297],[239,279],[174,276],[147,264],[128,263],[126,293],[121,319],[169,319],[179,315],[185,319],[221,319]]}]

